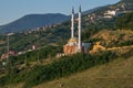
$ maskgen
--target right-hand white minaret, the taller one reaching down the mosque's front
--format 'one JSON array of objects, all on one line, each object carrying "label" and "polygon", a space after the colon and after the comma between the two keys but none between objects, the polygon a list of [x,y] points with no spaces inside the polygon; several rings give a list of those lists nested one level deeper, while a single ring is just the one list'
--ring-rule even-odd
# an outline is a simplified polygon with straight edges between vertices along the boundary
[{"label": "right-hand white minaret, the taller one reaching down the mosque's front", "polygon": [[78,43],[78,51],[81,52],[81,6],[79,8],[79,43]]}]

